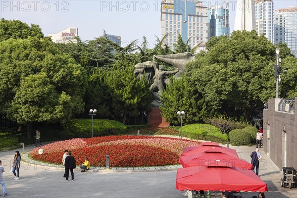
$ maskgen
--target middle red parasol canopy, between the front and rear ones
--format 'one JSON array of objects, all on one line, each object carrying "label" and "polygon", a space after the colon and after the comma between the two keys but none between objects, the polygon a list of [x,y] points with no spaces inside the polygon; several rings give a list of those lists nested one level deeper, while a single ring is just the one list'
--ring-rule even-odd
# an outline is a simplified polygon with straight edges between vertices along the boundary
[{"label": "middle red parasol canopy, between the front and rear ones", "polygon": [[222,163],[229,163],[231,166],[241,169],[252,169],[252,164],[234,155],[229,155],[221,148],[210,148],[197,154],[181,156],[179,162],[184,168],[207,164],[222,166]]}]

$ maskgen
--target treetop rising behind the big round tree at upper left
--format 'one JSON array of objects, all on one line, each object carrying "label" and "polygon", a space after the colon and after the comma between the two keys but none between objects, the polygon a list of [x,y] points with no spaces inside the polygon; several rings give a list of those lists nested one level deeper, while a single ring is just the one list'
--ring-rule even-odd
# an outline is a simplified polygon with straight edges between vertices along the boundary
[{"label": "treetop rising behind the big round tree at upper left", "polygon": [[43,38],[39,25],[31,24],[31,27],[19,20],[0,20],[0,42],[7,39],[27,39],[28,37]]}]

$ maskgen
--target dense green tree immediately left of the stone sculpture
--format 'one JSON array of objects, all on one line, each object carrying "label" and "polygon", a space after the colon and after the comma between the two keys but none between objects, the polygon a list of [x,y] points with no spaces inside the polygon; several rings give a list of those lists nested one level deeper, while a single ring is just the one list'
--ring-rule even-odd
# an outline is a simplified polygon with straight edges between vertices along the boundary
[{"label": "dense green tree immediately left of the stone sculpture", "polygon": [[[123,63],[123,62],[122,62]],[[105,79],[112,99],[113,114],[122,118],[125,124],[127,116],[136,117],[139,109],[148,110],[151,95],[145,78],[138,79],[134,74],[134,63],[115,65]]]}]

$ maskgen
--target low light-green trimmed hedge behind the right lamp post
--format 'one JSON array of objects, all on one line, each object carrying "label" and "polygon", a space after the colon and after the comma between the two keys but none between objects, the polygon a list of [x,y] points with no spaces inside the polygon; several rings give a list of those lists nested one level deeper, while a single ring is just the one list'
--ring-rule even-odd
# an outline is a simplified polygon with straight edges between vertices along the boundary
[{"label": "low light-green trimmed hedge behind the right lamp post", "polygon": [[222,134],[220,129],[209,124],[190,124],[183,126],[183,136],[196,139],[226,144],[228,135]]}]

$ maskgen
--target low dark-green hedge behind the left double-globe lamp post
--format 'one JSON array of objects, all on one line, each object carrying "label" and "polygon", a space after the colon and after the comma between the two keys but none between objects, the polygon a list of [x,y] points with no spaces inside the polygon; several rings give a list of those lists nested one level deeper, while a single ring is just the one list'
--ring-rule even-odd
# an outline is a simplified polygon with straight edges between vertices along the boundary
[{"label": "low dark-green hedge behind the left double-globe lamp post", "polygon": [[[92,136],[91,119],[73,119],[66,129],[75,135],[75,138],[90,138]],[[115,120],[93,120],[93,137],[123,134],[127,127]]]}]

